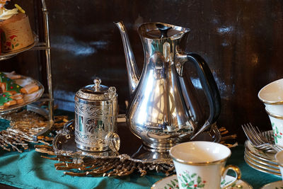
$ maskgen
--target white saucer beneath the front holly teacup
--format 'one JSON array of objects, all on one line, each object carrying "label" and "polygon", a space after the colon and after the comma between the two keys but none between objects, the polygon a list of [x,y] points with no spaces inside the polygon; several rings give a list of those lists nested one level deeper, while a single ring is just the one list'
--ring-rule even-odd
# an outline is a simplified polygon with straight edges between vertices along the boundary
[{"label": "white saucer beneath the front holly teacup", "polygon": [[[225,185],[226,183],[230,183],[233,181],[233,176],[226,176],[225,179],[221,182],[221,186]],[[179,188],[178,186],[178,180],[176,175],[172,176],[167,176],[166,178],[163,178],[154,185],[151,186],[151,189],[164,189],[164,188],[171,188],[171,189],[176,189]],[[226,189],[233,189],[233,188],[241,188],[241,189],[253,189],[251,185],[246,183],[245,181],[237,181],[235,185],[232,185],[231,187],[228,187]]]}]

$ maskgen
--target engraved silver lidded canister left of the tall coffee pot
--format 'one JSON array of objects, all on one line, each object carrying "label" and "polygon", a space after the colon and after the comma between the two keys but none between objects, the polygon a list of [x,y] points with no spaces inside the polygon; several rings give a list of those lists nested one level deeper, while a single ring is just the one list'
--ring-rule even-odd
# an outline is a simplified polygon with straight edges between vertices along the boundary
[{"label": "engraved silver lidded canister left of the tall coffee pot", "polygon": [[83,151],[118,151],[117,93],[114,86],[100,85],[96,78],[76,92],[75,142]]}]

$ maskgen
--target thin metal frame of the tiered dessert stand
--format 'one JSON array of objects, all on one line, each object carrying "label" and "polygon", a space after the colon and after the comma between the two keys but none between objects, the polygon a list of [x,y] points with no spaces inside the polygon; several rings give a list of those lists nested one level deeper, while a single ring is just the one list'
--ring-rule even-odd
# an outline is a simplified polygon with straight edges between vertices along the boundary
[{"label": "thin metal frame of the tiered dessert stand", "polygon": [[[11,53],[4,53],[0,55],[0,61],[4,59],[9,59],[11,57],[14,57],[18,55],[21,52],[25,52],[26,50],[45,50],[45,57],[46,57],[46,70],[47,70],[47,86],[48,86],[48,118],[49,118],[49,124],[46,127],[45,130],[43,130],[40,133],[35,134],[34,140],[37,140],[37,136],[40,136],[41,134],[44,134],[44,132],[47,132],[52,125],[54,124],[54,99],[53,99],[53,91],[52,91],[52,72],[51,72],[51,59],[50,59],[50,31],[49,31],[49,20],[48,20],[48,12],[47,7],[45,4],[45,0],[41,0],[42,3],[42,22],[43,22],[43,30],[44,30],[44,42],[38,42],[38,38],[35,35],[35,42],[32,45],[29,45],[28,47],[25,47],[21,50],[17,50]],[[41,84],[40,84],[41,86]],[[43,86],[42,86],[43,87]],[[40,95],[41,96],[41,95]],[[38,100],[38,98],[36,99]],[[24,105],[22,105],[24,106]],[[16,107],[22,108],[22,107]],[[27,109],[28,106],[27,106]],[[31,108],[30,110],[35,110],[35,108]],[[11,113],[13,110],[7,110],[7,111],[1,111],[0,114],[8,114]],[[37,109],[38,111],[38,109]]]}]

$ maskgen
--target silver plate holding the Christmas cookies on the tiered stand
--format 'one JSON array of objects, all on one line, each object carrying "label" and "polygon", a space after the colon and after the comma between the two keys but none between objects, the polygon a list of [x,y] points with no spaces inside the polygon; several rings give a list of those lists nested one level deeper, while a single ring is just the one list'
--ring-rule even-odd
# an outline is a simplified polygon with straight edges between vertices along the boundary
[{"label": "silver plate holding the Christmas cookies on the tiered stand", "polygon": [[28,105],[30,103],[37,101],[44,92],[44,87],[42,86],[42,84],[40,84],[39,81],[32,79],[28,76],[21,76],[20,79],[14,79],[14,80],[16,81],[16,84],[20,86],[25,86],[26,84],[36,84],[39,87],[39,89],[35,91],[34,93],[23,94],[23,101],[24,101],[23,103],[10,105],[8,106],[8,108],[5,108],[4,110],[0,110],[0,115],[12,113],[13,111],[18,110],[19,108],[23,108],[25,105]]}]

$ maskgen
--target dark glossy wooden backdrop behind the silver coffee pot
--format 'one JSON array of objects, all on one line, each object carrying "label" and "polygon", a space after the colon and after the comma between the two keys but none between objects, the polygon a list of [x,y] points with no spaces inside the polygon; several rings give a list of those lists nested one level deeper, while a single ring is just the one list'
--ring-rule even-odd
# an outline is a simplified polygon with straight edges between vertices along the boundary
[{"label": "dark glossy wooden backdrop behind the silver coffee pot", "polygon": [[[41,36],[40,0],[17,2]],[[209,64],[221,93],[219,126],[246,137],[241,125],[252,122],[271,130],[260,88],[283,78],[283,1],[281,0],[46,0],[50,16],[52,79],[55,103],[74,110],[74,93],[99,76],[116,86],[120,113],[129,101],[125,55],[113,21],[124,21],[139,69],[144,53],[137,27],[144,22],[190,28],[186,52],[197,52]],[[0,63],[46,86],[44,52],[28,51]],[[192,71],[187,71],[190,74]]]}]

